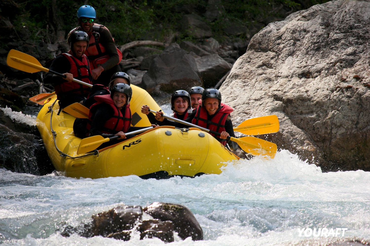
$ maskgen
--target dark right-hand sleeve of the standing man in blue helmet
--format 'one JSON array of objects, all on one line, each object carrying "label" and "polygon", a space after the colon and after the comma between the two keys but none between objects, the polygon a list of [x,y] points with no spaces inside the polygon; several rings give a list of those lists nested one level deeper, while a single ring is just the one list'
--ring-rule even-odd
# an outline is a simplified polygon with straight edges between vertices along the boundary
[{"label": "dark right-hand sleeve of the standing man in blue helmet", "polygon": [[104,68],[104,71],[111,69],[120,62],[118,52],[113,41],[112,34],[105,28],[100,28],[99,30],[100,43],[104,46],[105,52],[110,56],[107,62],[103,63],[101,66]]}]

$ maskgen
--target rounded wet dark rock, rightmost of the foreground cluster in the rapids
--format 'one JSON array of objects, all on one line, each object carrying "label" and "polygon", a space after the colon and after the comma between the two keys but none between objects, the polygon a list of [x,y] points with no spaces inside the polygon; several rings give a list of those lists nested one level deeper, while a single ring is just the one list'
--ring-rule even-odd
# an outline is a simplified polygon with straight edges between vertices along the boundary
[{"label": "rounded wet dark rock, rightmost of the foreground cluster in the rapids", "polygon": [[153,202],[144,212],[161,221],[172,221],[180,238],[191,236],[193,240],[203,240],[203,230],[189,208],[172,203]]}]

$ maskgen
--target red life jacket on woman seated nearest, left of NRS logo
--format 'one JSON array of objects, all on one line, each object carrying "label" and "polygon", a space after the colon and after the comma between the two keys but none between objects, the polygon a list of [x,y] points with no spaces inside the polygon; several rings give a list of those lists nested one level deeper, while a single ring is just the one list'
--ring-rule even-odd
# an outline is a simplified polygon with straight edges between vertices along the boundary
[{"label": "red life jacket on woman seated nearest, left of NRS logo", "polygon": [[114,104],[111,95],[102,95],[102,96],[95,96],[94,99],[97,101],[96,103],[92,104],[90,107],[89,118],[87,123],[87,131],[89,132],[91,129],[91,122],[92,118],[94,118],[95,112],[97,110],[97,105],[101,103],[106,103],[111,106],[114,111],[114,115],[112,118],[108,119],[105,124],[104,128],[100,131],[105,134],[116,134],[117,132],[127,132],[128,128],[131,125],[131,110],[130,104],[124,106],[125,115],[122,114],[121,110]]}]

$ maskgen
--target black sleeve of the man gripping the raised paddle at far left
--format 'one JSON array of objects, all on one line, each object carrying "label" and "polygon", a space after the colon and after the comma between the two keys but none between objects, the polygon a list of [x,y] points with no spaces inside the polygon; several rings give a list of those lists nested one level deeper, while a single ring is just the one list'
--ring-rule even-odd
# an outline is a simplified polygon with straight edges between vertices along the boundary
[{"label": "black sleeve of the man gripping the raised paddle at far left", "polygon": [[[59,55],[54,58],[49,69],[61,74],[68,73],[71,70],[71,63],[64,55]],[[45,84],[53,84],[55,86],[64,82],[68,81],[57,75],[52,75],[51,73],[47,73],[44,77]]]}]

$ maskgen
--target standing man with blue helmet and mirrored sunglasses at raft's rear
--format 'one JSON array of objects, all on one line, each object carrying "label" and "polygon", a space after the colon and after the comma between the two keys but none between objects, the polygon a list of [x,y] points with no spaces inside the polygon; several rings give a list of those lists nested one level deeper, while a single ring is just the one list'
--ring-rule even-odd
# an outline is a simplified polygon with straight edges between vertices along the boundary
[{"label": "standing man with blue helmet and mirrored sunglasses at raft's rear", "polygon": [[[77,11],[79,27],[70,33],[81,30],[90,38],[85,55],[90,61],[93,84],[108,86],[114,73],[121,72],[119,63],[122,53],[116,48],[112,34],[104,25],[94,23],[95,9],[89,5],[81,6]],[[68,36],[69,37],[69,36]]]}]

